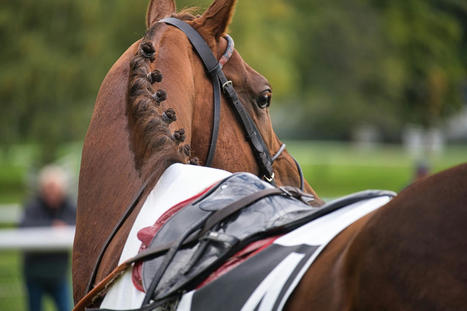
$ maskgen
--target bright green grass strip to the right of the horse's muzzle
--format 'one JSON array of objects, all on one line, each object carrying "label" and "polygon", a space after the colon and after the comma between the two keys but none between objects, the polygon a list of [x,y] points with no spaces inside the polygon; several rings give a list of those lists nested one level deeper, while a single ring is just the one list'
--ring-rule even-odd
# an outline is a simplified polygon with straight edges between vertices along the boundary
[{"label": "bright green grass strip to the right of the horse's muzzle", "polygon": [[[288,142],[305,178],[324,198],[365,189],[400,191],[413,176],[414,159],[400,146],[358,148],[352,144]],[[431,172],[467,161],[467,146],[449,146],[428,156]]]}]

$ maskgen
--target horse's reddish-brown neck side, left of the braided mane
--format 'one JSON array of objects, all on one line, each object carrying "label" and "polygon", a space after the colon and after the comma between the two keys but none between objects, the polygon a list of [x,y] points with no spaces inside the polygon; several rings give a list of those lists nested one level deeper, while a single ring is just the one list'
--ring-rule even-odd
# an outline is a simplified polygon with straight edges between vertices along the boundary
[{"label": "horse's reddish-brown neck side, left of the braided mane", "polygon": [[136,48],[130,47],[104,79],[83,146],[73,252],[75,299],[84,295],[99,248],[142,184],[130,151],[125,100]]}]

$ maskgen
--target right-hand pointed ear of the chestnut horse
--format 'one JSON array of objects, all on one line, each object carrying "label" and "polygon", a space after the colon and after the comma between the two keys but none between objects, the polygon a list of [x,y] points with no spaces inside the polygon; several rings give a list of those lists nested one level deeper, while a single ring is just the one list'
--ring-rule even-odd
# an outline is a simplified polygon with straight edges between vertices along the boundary
[{"label": "right-hand pointed ear of the chestnut horse", "polygon": [[237,0],[214,0],[211,6],[197,18],[203,30],[219,38],[227,31]]}]

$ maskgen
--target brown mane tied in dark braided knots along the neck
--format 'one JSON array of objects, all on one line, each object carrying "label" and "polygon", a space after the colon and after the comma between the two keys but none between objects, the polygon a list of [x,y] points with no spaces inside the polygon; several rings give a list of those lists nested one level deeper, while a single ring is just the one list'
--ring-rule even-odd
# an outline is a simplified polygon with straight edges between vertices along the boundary
[{"label": "brown mane tied in dark braided knots along the neck", "polygon": [[151,70],[151,63],[156,55],[151,40],[155,28],[151,27],[144,35],[137,53],[130,62],[129,71],[128,126],[135,167],[140,174],[143,166],[151,163],[160,168],[157,163],[166,163],[168,167],[176,162],[198,162],[197,159],[189,158],[189,145],[180,145],[185,139],[184,129],[172,133],[169,128],[176,120],[176,113],[172,108],[165,111],[161,108],[161,102],[167,99],[166,92],[162,89],[156,91],[153,87],[163,79],[161,72]]}]

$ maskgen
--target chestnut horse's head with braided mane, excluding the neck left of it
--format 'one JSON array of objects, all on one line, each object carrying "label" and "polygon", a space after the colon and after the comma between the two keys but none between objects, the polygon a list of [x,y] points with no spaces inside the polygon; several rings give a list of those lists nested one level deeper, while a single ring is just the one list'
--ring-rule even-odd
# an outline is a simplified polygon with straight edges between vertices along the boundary
[{"label": "chestnut horse's head with braided mane, excluding the neck left of it", "polygon": [[[269,115],[271,85],[236,50],[226,54],[229,40],[225,33],[235,2],[215,0],[204,14],[195,17],[177,14],[174,0],[150,1],[147,32],[130,64],[127,99],[131,148],[142,175],[151,170],[153,155],[167,145],[177,148],[182,161],[205,165],[216,127],[212,79],[187,35],[162,20],[170,16],[196,29],[214,57],[222,59],[223,72],[259,130],[266,151],[274,155],[281,150],[282,143],[274,133]],[[210,165],[262,175],[258,156],[229,101],[220,95],[219,130]],[[278,154],[272,171],[278,185],[300,185],[298,167],[287,151]],[[305,190],[313,192],[306,182]]]}]

